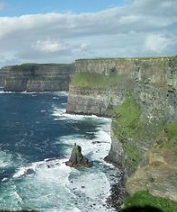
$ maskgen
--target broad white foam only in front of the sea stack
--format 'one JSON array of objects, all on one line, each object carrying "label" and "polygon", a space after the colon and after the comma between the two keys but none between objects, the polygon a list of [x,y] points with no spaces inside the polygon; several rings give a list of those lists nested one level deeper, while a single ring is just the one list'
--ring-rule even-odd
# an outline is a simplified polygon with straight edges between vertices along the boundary
[{"label": "broad white foam only in front of the sea stack", "polygon": [[[26,178],[26,184],[19,184],[23,190],[18,193],[19,199],[28,198],[23,202],[26,207],[40,207],[41,211],[47,212],[113,212],[105,207],[106,197],[110,195],[106,175],[96,167],[84,171],[70,168],[65,161],[46,159],[16,173],[16,177]],[[33,169],[35,175],[24,175],[29,169]]]}]

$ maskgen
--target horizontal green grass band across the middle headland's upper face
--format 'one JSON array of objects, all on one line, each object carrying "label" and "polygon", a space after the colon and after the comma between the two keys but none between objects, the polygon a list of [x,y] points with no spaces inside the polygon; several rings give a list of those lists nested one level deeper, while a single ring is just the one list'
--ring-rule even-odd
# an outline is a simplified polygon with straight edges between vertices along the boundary
[{"label": "horizontal green grass band across the middle headland's upper face", "polygon": [[82,72],[74,74],[71,84],[78,87],[112,88],[120,86],[125,76],[111,73],[109,76],[98,73]]}]

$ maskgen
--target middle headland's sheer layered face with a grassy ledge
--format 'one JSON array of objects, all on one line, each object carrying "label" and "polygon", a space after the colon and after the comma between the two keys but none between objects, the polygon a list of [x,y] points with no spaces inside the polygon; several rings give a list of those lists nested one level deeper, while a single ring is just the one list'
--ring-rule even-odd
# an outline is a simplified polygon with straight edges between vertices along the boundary
[{"label": "middle headland's sheer layered face with a grassy ledge", "polygon": [[75,63],[67,104],[68,113],[95,114],[111,117],[134,89],[131,78],[136,66],[129,60],[90,59]]}]

